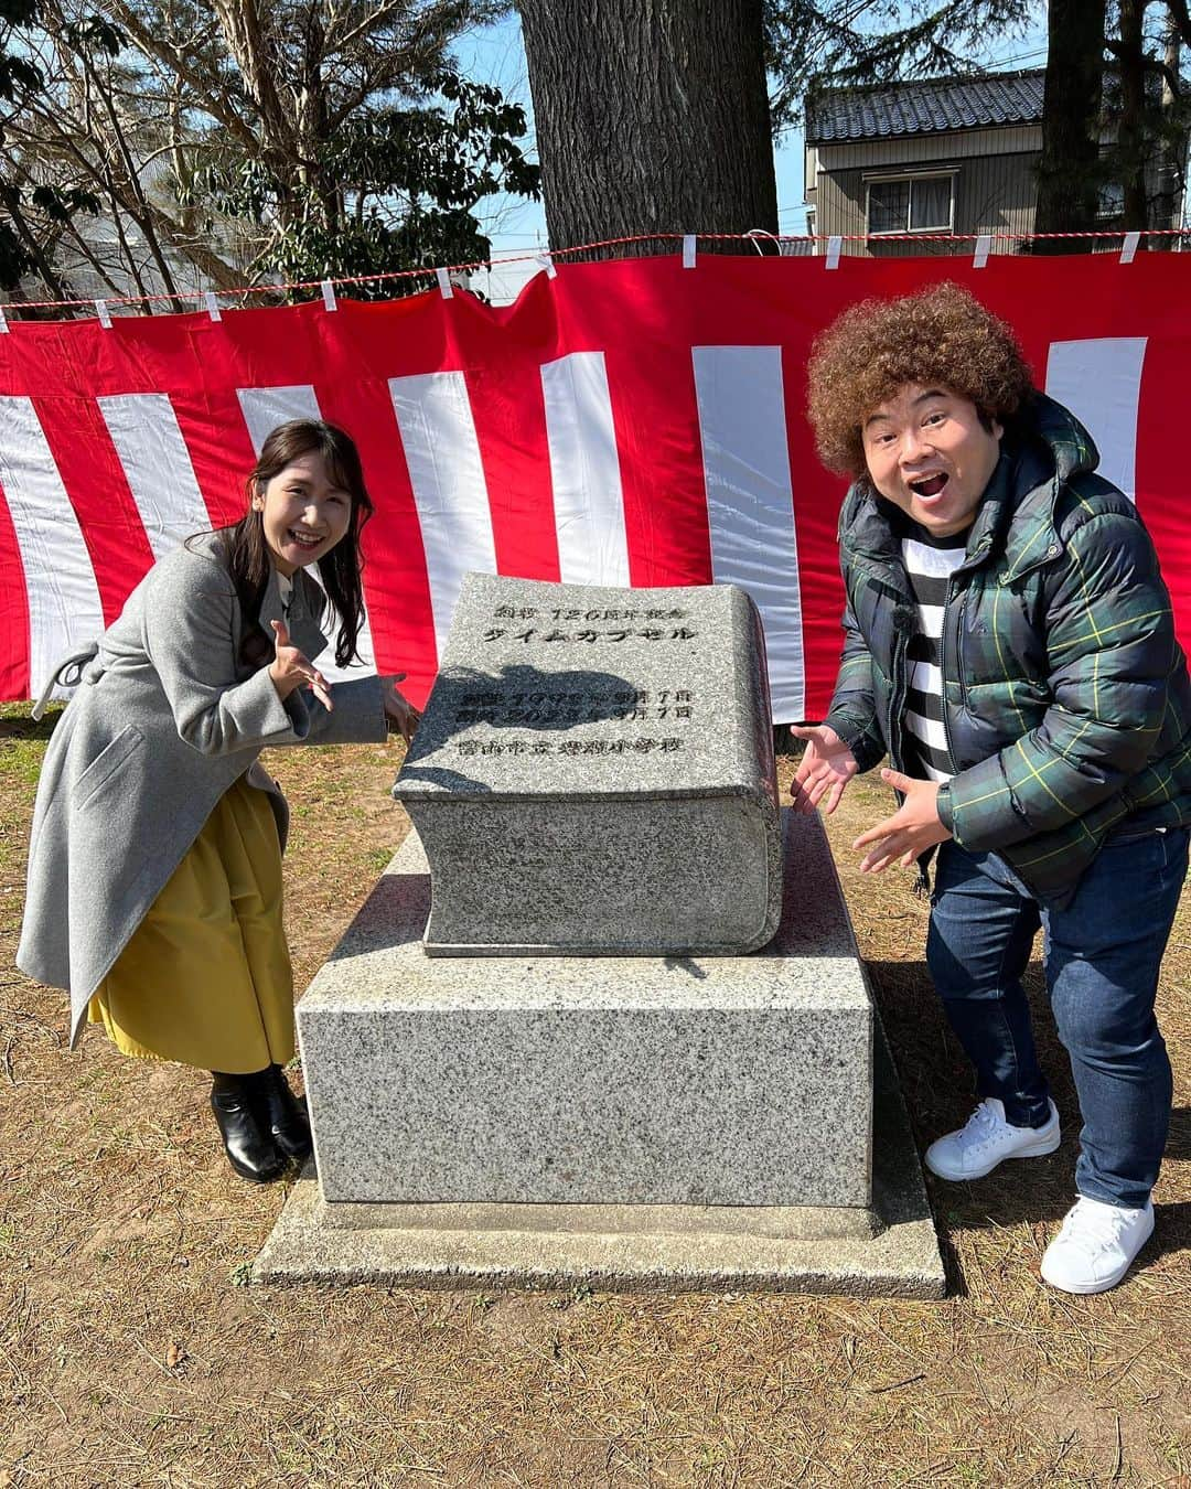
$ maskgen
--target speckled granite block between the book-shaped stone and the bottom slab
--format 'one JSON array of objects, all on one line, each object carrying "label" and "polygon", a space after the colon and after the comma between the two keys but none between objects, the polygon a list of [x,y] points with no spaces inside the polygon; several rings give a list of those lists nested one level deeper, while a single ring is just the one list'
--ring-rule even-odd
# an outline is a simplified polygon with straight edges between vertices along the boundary
[{"label": "speckled granite block between the book-shaped stone and the bottom slab", "polygon": [[779,932],[721,957],[426,956],[411,834],[298,1005],[323,1197],[866,1206],[872,1004],[783,816]]}]

